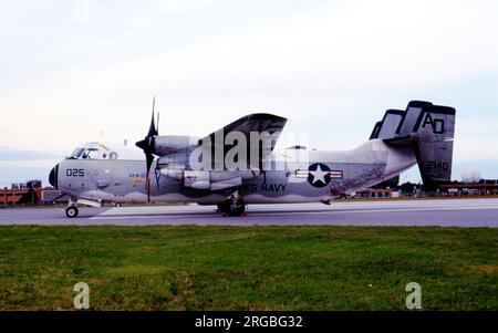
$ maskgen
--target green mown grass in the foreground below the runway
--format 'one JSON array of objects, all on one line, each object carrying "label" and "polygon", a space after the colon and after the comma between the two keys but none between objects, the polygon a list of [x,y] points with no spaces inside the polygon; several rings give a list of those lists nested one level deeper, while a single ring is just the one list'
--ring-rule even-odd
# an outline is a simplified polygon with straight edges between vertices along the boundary
[{"label": "green mown grass in the foreground below the runway", "polygon": [[498,310],[498,230],[0,228],[0,309]]}]

